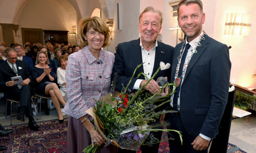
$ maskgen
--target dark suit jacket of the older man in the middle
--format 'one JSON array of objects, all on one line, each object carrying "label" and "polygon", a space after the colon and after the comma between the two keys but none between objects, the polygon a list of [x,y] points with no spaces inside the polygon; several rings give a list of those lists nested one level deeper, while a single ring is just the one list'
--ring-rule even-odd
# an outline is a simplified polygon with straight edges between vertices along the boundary
[{"label": "dark suit jacket of the older man in the middle", "polygon": [[[172,66],[172,59],[174,54],[174,47],[164,44],[162,42],[157,42],[156,47],[155,63],[153,68],[153,73],[157,71],[160,66],[160,62],[165,64],[169,63]],[[123,87],[126,87],[129,83],[135,68],[142,63],[141,46],[140,39],[132,40],[129,42],[123,42],[118,44],[115,62],[111,74],[111,81],[114,81],[115,74],[117,75],[115,90],[121,91]],[[170,67],[171,67],[170,66]],[[140,72],[143,72],[143,66],[138,68],[134,78],[129,86],[129,89],[133,91],[133,86],[137,80],[137,76]],[[165,69],[160,70],[154,80],[159,77],[167,77],[170,80],[171,70]],[[145,79],[143,75],[139,79]],[[123,85],[122,85],[123,84]]]}]

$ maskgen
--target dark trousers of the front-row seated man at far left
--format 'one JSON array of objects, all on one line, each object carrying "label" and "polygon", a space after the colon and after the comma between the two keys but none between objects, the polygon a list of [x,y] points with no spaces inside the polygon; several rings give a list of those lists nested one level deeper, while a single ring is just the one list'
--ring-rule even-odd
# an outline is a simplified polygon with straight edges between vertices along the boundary
[{"label": "dark trousers of the front-row seated man at far left", "polygon": [[[4,92],[7,99],[15,99],[20,101],[20,108],[25,107],[26,116],[33,116],[31,108],[31,96],[33,93],[33,88],[29,85],[24,85],[22,88],[18,88],[17,85],[9,87],[6,92]],[[19,112],[20,113],[20,112]]]}]

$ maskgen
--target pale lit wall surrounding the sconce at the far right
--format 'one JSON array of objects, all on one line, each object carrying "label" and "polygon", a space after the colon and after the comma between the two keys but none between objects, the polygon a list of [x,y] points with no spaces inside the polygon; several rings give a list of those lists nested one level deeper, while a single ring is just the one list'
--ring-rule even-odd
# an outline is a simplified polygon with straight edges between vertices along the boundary
[{"label": "pale lit wall surrounding the sconce at the far right", "polygon": [[[256,88],[256,11],[254,0],[239,1],[226,0],[217,1],[214,38],[218,41],[232,46],[229,55],[232,63],[230,79],[236,79],[237,84],[243,87]],[[226,13],[245,13],[252,15],[250,36],[227,36],[224,35]]]}]

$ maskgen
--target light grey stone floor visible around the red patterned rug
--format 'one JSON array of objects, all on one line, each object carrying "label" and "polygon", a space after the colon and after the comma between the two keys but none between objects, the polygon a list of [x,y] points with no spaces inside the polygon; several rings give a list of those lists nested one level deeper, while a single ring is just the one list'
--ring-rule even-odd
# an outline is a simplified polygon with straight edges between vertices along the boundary
[{"label": "light grey stone floor visible around the red patterned rug", "polygon": [[[0,98],[3,96],[0,93]],[[0,101],[0,123],[3,126],[10,125],[10,117],[5,118],[5,101]],[[17,115],[17,110],[13,111],[14,115]],[[67,117],[67,116],[65,116]],[[38,116],[39,118],[39,116]],[[44,112],[41,113],[41,119],[35,121],[45,121],[51,119],[57,119],[57,111],[51,110],[50,115],[47,116]],[[25,118],[25,122],[16,120],[16,116],[12,117],[12,124],[28,123],[28,118]],[[231,123],[229,143],[237,145],[242,150],[248,153],[255,153],[256,151],[256,115],[250,115],[247,118],[234,119]]]}]

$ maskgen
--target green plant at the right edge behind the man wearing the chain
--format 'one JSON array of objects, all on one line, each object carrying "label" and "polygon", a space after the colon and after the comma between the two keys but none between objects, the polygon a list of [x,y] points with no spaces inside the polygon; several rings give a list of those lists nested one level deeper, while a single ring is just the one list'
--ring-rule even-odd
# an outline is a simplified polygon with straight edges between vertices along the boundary
[{"label": "green plant at the right edge behind the man wearing the chain", "polygon": [[255,95],[249,95],[244,92],[237,91],[236,98],[234,99],[234,107],[247,110],[255,100]]}]

